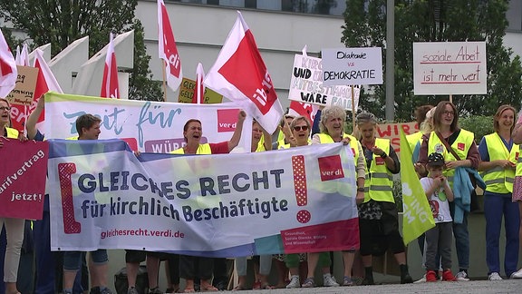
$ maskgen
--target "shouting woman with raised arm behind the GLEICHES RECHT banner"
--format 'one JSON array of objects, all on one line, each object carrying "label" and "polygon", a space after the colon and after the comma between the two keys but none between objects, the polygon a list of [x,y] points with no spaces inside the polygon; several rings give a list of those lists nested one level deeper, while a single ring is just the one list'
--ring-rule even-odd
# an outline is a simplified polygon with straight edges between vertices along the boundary
[{"label": "shouting woman with raised arm behind the GLEICHES RECHT banner", "polygon": [[[187,144],[182,148],[174,150],[170,153],[174,154],[222,154],[231,152],[241,139],[243,131],[243,122],[247,113],[240,111],[237,114],[236,130],[232,134],[230,141],[218,143],[201,143],[203,136],[203,128],[201,122],[197,119],[190,119],[183,126],[183,137]],[[201,291],[217,291],[218,289],[211,284],[212,274],[214,270],[214,261],[211,258],[194,257],[187,255],[179,256],[179,277],[185,279],[185,293],[195,292],[194,279],[198,276],[201,279]],[[197,272],[198,271],[198,272]]]}]

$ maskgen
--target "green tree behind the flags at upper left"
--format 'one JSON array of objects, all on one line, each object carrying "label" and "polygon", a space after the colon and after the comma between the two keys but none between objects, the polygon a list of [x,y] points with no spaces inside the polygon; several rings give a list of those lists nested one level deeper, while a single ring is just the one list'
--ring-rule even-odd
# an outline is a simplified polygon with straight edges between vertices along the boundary
[{"label": "green tree behind the flags at upper left", "polygon": [[129,98],[161,101],[160,83],[151,80],[143,27],[134,17],[137,4],[137,0],[0,0],[0,17],[27,34],[34,45],[50,43],[53,54],[89,35],[92,56],[108,43],[109,33],[134,29]]}]

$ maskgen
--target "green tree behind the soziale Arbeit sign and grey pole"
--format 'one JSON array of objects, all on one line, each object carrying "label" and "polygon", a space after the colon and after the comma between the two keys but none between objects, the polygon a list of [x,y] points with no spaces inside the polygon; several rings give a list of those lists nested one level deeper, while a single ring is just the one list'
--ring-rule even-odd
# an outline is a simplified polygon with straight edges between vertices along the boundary
[{"label": "green tree behind the soziale Arbeit sign and grey pole", "polygon": [[[491,115],[504,103],[520,107],[520,57],[513,57],[513,51],[502,44],[507,5],[508,0],[395,0],[396,120],[411,120],[417,106],[449,99],[448,95],[413,95],[414,42],[486,41],[488,93],[453,95],[453,103],[463,115]],[[343,44],[379,46],[385,56],[385,0],[347,0],[344,20]],[[384,117],[385,83],[371,87],[372,96],[362,93],[362,109]]]}]

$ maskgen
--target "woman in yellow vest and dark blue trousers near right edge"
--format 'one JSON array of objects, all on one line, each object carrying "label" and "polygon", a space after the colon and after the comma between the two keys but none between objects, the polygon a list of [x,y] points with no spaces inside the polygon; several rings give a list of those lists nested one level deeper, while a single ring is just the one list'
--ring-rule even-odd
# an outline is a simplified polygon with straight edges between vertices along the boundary
[{"label": "woman in yellow vest and dark blue trousers near right edge", "polygon": [[[486,263],[488,279],[500,277],[498,240],[504,216],[506,230],[506,251],[504,266],[506,276],[514,278],[518,261],[518,228],[520,216],[518,204],[511,201],[518,145],[513,144],[511,132],[515,127],[515,108],[501,105],[493,117],[495,132],[490,133],[478,144],[482,162],[478,171],[486,182],[484,191],[484,216],[486,217]],[[520,273],[522,275],[522,271]],[[522,276],[520,277],[522,278]]]}]

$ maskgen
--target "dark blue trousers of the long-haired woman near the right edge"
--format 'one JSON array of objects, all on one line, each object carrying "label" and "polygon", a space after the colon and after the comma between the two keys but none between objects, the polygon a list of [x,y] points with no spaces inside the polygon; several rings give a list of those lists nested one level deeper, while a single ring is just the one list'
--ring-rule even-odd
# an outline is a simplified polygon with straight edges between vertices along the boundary
[{"label": "dark blue trousers of the long-haired woman near the right edge", "polygon": [[499,194],[486,191],[484,193],[484,216],[486,217],[486,263],[488,274],[500,273],[498,240],[504,215],[506,230],[506,252],[504,270],[507,277],[517,271],[518,260],[518,227],[520,225],[518,203],[511,201],[511,193]]}]

